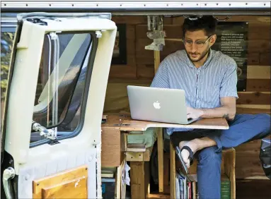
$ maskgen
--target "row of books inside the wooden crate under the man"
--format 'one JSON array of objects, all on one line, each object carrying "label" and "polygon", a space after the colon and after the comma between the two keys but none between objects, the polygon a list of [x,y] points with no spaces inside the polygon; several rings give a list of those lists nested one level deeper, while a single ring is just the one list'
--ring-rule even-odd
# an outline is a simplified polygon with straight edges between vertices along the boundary
[{"label": "row of books inside the wooden crate under the man", "polygon": [[[180,169],[176,171],[176,199],[199,198],[197,174],[184,175]],[[226,174],[221,175],[221,199],[231,198],[231,181]]]}]

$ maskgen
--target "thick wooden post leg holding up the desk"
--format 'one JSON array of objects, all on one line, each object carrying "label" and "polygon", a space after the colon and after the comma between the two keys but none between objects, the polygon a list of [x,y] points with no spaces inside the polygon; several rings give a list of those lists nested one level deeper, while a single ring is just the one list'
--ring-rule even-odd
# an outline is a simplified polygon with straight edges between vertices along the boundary
[{"label": "thick wooden post leg holding up the desk", "polygon": [[149,196],[149,162],[130,162],[131,199]]}]

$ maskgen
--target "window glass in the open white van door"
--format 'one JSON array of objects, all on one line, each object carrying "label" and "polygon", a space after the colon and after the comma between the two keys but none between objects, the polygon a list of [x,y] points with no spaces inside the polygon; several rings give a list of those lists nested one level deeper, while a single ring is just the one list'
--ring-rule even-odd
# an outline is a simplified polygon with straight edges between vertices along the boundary
[{"label": "window glass in the open white van door", "polygon": [[[86,84],[91,35],[47,34],[44,37],[33,121],[69,135],[79,125]],[[45,139],[33,132],[30,142]]]}]

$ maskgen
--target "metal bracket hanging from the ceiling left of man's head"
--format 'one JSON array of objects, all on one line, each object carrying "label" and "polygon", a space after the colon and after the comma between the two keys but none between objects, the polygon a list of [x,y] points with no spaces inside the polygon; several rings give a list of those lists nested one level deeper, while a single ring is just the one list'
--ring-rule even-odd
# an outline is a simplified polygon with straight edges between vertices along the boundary
[{"label": "metal bracket hanging from the ceiling left of man's head", "polygon": [[163,30],[162,16],[148,16],[148,30],[146,36],[154,40],[151,44],[145,47],[148,50],[161,51],[165,46],[166,32]]}]

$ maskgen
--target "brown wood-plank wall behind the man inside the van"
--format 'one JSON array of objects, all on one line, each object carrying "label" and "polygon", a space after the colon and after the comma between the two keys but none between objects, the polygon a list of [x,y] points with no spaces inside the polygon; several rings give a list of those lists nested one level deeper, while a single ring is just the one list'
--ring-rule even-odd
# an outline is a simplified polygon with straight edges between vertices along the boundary
[{"label": "brown wood-plank wall behind the man inside the van", "polygon": [[[224,16],[217,16],[224,18]],[[115,23],[125,23],[127,64],[113,65],[105,97],[104,112],[129,112],[127,85],[150,85],[154,78],[154,52],[145,50],[152,40],[146,37],[146,16],[113,17]],[[246,92],[238,92],[239,114],[270,114],[270,17],[232,16],[229,21],[248,22],[248,71]],[[182,37],[183,17],[164,18],[167,39]],[[181,42],[166,40],[161,60],[183,49]],[[265,176],[258,157],[260,140],[236,147],[236,178]]]}]

